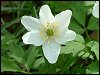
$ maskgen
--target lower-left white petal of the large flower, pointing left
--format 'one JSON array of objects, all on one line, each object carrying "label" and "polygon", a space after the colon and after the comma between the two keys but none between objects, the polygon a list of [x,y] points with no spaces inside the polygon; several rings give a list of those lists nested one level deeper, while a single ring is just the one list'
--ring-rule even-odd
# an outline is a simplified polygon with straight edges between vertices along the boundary
[{"label": "lower-left white petal of the large flower, pointing left", "polygon": [[22,39],[25,44],[34,44],[35,46],[40,46],[45,42],[40,36],[39,31],[27,32]]}]

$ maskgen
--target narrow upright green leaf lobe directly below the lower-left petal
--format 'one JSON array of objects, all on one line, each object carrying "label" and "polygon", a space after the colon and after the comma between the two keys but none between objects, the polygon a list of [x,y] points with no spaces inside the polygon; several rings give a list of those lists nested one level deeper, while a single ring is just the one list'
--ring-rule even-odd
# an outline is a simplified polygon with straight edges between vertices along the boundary
[{"label": "narrow upright green leaf lobe directly below the lower-left petal", "polygon": [[36,47],[31,46],[31,48],[28,49],[28,55],[27,55],[27,61],[25,63],[25,66],[27,67],[28,70],[33,66],[35,58],[38,54],[38,49]]}]

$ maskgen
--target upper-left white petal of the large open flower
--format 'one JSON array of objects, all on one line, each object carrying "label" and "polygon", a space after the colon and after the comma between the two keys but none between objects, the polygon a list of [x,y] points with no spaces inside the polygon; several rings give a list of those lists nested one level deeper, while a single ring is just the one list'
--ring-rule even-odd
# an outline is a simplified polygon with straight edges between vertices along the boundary
[{"label": "upper-left white petal of the large open flower", "polygon": [[21,23],[28,31],[39,30],[40,22],[38,19],[31,16],[23,16],[21,19]]}]

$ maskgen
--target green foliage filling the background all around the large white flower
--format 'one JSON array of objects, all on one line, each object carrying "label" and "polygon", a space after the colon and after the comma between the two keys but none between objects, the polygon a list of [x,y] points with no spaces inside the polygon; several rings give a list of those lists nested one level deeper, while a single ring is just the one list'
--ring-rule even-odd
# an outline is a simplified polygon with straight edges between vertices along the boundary
[{"label": "green foliage filling the background all around the large white flower", "polygon": [[[38,18],[42,5],[48,4],[53,15],[72,10],[69,29],[76,39],[62,45],[57,63],[44,58],[41,46],[25,45],[22,35],[26,29],[23,15]],[[88,10],[84,1],[2,1],[1,3],[1,72],[24,74],[99,74],[99,19]],[[92,34],[97,32],[96,35]],[[96,36],[94,39],[92,36]]]}]

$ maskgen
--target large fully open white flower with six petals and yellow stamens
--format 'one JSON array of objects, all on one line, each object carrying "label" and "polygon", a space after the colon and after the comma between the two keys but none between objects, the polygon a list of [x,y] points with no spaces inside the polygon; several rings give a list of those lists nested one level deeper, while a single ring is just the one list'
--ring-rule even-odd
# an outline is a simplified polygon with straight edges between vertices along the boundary
[{"label": "large fully open white flower with six petals and yellow stamens", "polygon": [[62,11],[55,17],[48,5],[43,5],[39,12],[40,18],[23,16],[21,23],[29,31],[23,37],[25,44],[42,45],[43,53],[49,63],[56,63],[61,46],[74,40],[76,33],[68,29],[72,12]]}]

